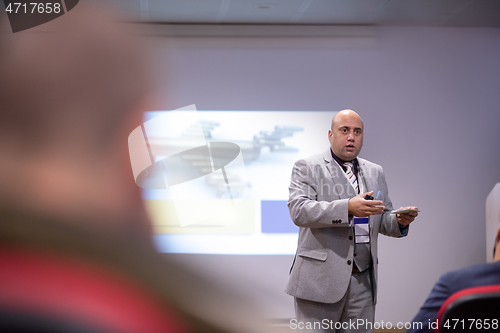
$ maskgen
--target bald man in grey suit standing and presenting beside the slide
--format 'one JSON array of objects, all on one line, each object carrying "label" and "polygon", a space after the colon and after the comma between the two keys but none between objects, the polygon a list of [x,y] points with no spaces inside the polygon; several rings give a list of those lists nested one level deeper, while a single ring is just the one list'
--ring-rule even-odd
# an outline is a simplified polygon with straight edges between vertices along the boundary
[{"label": "bald man in grey suit standing and presenting beside the slide", "polygon": [[300,229],[285,289],[295,298],[290,324],[314,332],[372,332],[378,234],[406,236],[417,207],[391,214],[382,167],[357,157],[363,121],[356,112],[335,114],[328,139],[330,149],[293,167],[288,208]]}]

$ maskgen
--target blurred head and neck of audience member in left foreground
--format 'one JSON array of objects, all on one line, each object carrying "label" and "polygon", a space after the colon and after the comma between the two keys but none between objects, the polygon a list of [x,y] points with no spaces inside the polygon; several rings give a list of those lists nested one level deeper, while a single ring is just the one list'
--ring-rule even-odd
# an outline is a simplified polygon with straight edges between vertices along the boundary
[{"label": "blurred head and neck of audience member in left foreground", "polygon": [[127,136],[152,84],[130,27],[81,4],[0,33],[0,49],[0,206],[88,220],[144,215]]}]

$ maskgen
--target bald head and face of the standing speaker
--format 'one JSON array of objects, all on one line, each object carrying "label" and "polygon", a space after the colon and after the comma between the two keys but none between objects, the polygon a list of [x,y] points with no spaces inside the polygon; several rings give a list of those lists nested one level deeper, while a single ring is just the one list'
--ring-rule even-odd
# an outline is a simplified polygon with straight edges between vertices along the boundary
[{"label": "bald head and face of the standing speaker", "polygon": [[363,121],[353,111],[336,115],[332,130],[328,131],[330,147],[337,157],[352,161],[363,147]]}]

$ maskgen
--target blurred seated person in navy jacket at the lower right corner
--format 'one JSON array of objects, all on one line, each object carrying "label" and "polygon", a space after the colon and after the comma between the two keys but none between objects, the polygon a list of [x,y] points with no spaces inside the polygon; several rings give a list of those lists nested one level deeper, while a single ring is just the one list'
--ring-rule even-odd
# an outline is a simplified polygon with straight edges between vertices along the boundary
[{"label": "blurred seated person in navy jacket at the lower right corner", "polygon": [[[432,333],[435,331],[438,312],[444,302],[456,292],[467,288],[500,284],[500,225],[497,229],[493,263],[474,265],[443,274],[419,312],[412,320],[407,333]],[[493,318],[491,318],[493,319]],[[468,327],[470,322],[467,323]],[[432,327],[431,327],[432,326]],[[441,326],[441,324],[440,324]],[[460,327],[460,326],[459,326]],[[473,327],[474,329],[475,327]],[[484,327],[486,329],[486,326]]]}]

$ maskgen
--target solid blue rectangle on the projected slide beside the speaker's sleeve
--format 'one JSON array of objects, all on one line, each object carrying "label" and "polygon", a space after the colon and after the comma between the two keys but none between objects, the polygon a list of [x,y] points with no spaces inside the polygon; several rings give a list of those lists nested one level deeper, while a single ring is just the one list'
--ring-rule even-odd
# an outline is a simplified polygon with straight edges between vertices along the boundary
[{"label": "solid blue rectangle on the projected slide beside the speaker's sleeve", "polygon": [[286,200],[262,200],[260,214],[262,233],[289,234],[298,233],[299,227],[292,222]]}]

